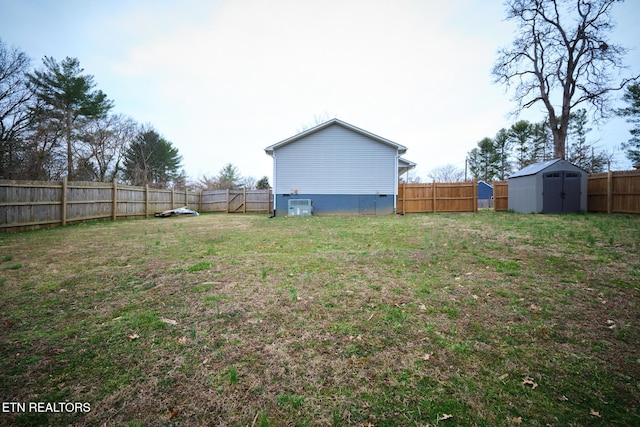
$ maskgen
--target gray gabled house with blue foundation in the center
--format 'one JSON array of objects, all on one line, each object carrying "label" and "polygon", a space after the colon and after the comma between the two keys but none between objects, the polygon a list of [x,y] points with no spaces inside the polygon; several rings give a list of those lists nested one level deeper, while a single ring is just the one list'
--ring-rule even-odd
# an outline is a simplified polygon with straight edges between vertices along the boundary
[{"label": "gray gabled house with blue foundation in the center", "polygon": [[400,157],[406,147],[338,119],[265,151],[273,157],[277,216],[297,214],[305,203],[320,215],[394,213],[398,178],[415,167]]}]

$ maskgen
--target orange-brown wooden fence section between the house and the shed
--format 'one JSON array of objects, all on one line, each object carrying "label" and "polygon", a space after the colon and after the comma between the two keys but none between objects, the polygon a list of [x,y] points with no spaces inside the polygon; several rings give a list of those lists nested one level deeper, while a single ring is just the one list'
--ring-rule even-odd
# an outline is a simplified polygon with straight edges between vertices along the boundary
[{"label": "orange-brown wooden fence section between the house and the shed", "polygon": [[477,212],[478,182],[400,184],[397,211]]}]

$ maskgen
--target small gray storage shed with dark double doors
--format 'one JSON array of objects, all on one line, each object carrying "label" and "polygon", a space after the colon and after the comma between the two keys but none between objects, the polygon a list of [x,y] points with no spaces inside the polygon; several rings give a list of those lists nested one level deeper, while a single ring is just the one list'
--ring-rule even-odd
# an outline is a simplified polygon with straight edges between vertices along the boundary
[{"label": "small gray storage shed with dark double doors", "polygon": [[587,210],[587,172],[566,160],[534,163],[508,178],[509,209],[520,213]]}]

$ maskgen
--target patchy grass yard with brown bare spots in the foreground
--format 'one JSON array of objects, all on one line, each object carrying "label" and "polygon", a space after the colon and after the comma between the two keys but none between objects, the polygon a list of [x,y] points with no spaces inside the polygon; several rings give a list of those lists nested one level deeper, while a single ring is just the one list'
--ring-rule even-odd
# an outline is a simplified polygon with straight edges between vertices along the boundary
[{"label": "patchy grass yard with brown bare spots in the foreground", "polygon": [[640,216],[2,234],[0,400],[90,404],[2,425],[640,425]]}]

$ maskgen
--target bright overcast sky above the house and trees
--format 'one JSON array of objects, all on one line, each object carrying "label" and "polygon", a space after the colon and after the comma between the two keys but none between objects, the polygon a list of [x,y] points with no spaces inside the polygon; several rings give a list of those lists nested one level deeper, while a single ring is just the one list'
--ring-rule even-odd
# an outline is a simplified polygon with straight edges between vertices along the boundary
[{"label": "bright overcast sky above the house and trees", "polygon": [[[611,40],[640,72],[640,1],[614,15]],[[36,68],[78,58],[113,112],[153,125],[192,179],[232,163],[271,182],[265,147],[338,117],[408,147],[429,181],[516,120],[490,74],[513,39],[503,18],[502,0],[0,0],[0,38]],[[629,139],[624,120],[592,126],[607,151]]]}]

